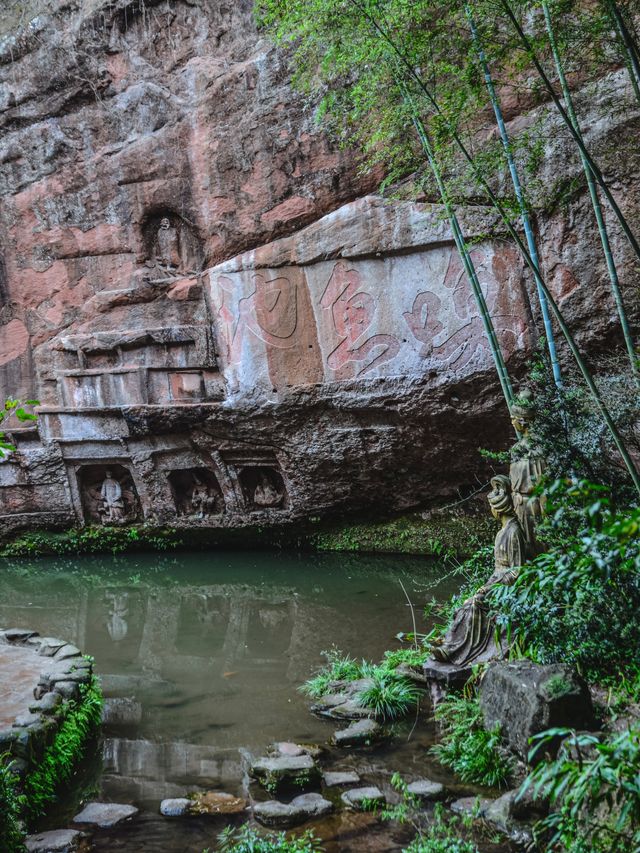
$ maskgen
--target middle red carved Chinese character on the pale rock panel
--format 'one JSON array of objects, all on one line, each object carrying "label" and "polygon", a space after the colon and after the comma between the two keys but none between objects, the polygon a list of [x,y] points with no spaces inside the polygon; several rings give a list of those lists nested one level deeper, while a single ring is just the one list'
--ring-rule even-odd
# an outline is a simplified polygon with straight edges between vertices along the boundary
[{"label": "middle red carved Chinese character on the pale rock panel", "polygon": [[320,300],[320,305],[331,311],[333,328],[340,342],[327,359],[327,365],[336,371],[337,378],[347,378],[345,370],[350,362],[364,362],[356,370],[362,376],[381,364],[395,358],[400,343],[393,335],[377,334],[367,337],[374,319],[374,297],[361,289],[357,270],[338,262]]}]

